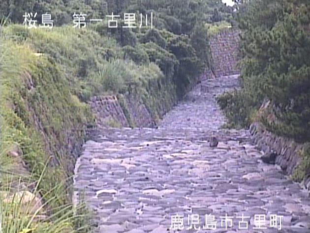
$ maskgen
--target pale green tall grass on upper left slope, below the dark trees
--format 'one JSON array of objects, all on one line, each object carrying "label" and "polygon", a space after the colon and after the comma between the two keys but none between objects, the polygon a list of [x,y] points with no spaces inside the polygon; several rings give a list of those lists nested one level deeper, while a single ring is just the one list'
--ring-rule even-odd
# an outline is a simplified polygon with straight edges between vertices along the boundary
[{"label": "pale green tall grass on upper left slope, below the dark trees", "polygon": [[87,77],[98,72],[100,64],[108,58],[123,56],[121,47],[117,46],[113,38],[100,36],[91,29],[62,26],[44,30],[9,25],[3,34],[15,42],[27,44],[36,53],[52,57],[70,82],[71,92],[79,96],[91,96],[88,93],[91,84]]}]

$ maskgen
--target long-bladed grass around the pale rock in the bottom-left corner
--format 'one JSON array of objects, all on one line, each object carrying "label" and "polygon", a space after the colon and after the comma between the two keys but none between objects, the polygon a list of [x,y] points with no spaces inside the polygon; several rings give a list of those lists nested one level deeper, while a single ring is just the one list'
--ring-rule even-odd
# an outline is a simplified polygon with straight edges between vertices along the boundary
[{"label": "long-bladed grass around the pale rock in the bottom-left corner", "polygon": [[[47,167],[45,166],[45,169]],[[6,191],[0,191],[1,206],[1,232],[5,233],[82,233],[90,232],[92,222],[92,213],[88,211],[85,204],[57,205],[58,198],[65,193],[60,190],[65,186],[64,182],[58,183],[53,189],[42,196],[43,203],[39,198],[39,186],[46,170],[42,172],[39,179],[33,176],[29,177],[28,183],[33,183],[35,187],[32,192],[25,187],[19,190],[12,190],[8,186]],[[1,175],[1,181],[12,184],[13,174]],[[26,178],[26,177],[23,177]],[[19,184],[21,184],[19,180]],[[51,195],[51,194],[54,194]],[[35,194],[35,195],[34,195]],[[55,196],[60,195],[60,196]],[[56,205],[55,205],[56,204]],[[54,205],[55,207],[50,208]],[[57,206],[57,207],[56,207]]]}]

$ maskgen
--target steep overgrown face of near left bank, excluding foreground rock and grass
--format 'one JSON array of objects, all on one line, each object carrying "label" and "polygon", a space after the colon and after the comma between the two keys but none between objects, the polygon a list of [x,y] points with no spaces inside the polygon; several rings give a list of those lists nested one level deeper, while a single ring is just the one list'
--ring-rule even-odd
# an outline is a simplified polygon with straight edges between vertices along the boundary
[{"label": "steep overgrown face of near left bank, excluding foreground rock and grass", "polygon": [[[22,46],[5,46],[14,66],[1,70],[2,149],[13,154],[12,145],[18,145],[18,156],[35,179],[49,161],[40,183],[44,194],[72,174],[84,143],[85,125],[93,122],[93,116],[89,106],[70,93],[52,59]],[[1,162],[9,161],[2,158]]]}]

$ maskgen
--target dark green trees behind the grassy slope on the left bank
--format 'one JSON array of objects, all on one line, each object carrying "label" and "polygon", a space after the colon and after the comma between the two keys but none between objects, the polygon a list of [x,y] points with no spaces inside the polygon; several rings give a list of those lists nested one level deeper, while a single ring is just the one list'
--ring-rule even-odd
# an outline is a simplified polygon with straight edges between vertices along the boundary
[{"label": "dark green trees behind the grassy slope on the left bank", "polygon": [[[232,15],[232,8],[220,0],[0,0],[0,9],[0,18],[9,15],[10,22],[20,24],[25,12],[36,12],[38,22],[41,15],[48,12],[55,26],[72,25],[73,13],[86,14],[87,22],[103,19],[95,25],[88,23],[88,27],[103,37],[113,37],[124,46],[124,58],[137,64],[148,63],[149,60],[158,64],[168,79],[173,77],[171,82],[180,88],[180,97],[196,82],[204,68],[210,68],[206,23],[231,21]],[[111,13],[120,15],[117,28],[108,27],[106,16]],[[124,13],[135,13],[137,28],[123,28]],[[151,13],[154,28],[140,28],[140,17],[145,23],[146,15],[150,26]],[[53,54],[55,51],[57,49],[50,52]],[[111,50],[104,56],[106,59],[115,57]],[[79,62],[78,77],[83,79],[90,74],[87,71],[89,61],[83,58]]]}]

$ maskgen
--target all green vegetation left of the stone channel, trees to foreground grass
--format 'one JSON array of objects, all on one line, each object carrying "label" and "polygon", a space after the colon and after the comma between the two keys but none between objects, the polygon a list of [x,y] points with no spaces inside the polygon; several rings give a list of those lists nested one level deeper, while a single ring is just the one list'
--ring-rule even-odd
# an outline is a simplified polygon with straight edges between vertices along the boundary
[{"label": "all green vegetation left of the stone channel, trees to foreground grass", "polygon": [[[157,121],[211,67],[208,27],[234,24],[232,11],[218,0],[0,0],[2,231],[90,232],[87,210],[71,200],[72,153],[94,120],[86,102],[117,95],[134,127],[124,101],[132,93]],[[26,12],[37,24],[50,13],[53,29],[26,29]],[[74,12],[103,21],[76,29]],[[112,12],[136,13],[138,25],[153,12],[154,28],[125,29],[120,19],[111,29]],[[37,211],[25,213],[20,196],[16,204],[21,191],[42,198]]]}]

